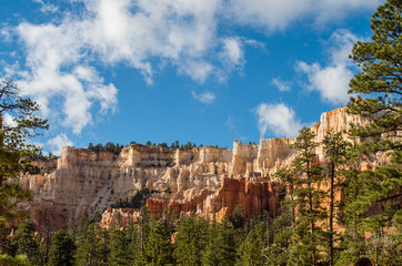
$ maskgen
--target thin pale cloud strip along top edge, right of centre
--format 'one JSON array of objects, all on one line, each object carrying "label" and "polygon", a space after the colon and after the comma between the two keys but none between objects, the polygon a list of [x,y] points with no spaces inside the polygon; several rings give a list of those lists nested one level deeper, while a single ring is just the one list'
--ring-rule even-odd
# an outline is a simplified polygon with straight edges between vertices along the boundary
[{"label": "thin pale cloud strip along top edge, right of centre", "polygon": [[284,30],[301,19],[315,25],[340,20],[348,13],[372,9],[381,0],[229,0],[227,17],[241,24],[265,28],[269,32]]}]

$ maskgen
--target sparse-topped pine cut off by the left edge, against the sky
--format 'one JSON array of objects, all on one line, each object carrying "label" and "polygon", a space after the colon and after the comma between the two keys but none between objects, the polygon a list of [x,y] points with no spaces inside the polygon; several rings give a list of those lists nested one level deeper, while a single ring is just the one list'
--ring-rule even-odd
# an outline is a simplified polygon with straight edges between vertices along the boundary
[{"label": "sparse-topped pine cut off by the left edge, against the sky", "polygon": [[[31,200],[31,194],[19,183],[21,174],[36,174],[29,157],[39,151],[26,140],[40,135],[48,129],[47,121],[36,116],[39,105],[19,95],[19,88],[11,80],[0,81],[0,223],[22,216],[26,212],[21,202]],[[13,117],[7,124],[6,115]]]}]

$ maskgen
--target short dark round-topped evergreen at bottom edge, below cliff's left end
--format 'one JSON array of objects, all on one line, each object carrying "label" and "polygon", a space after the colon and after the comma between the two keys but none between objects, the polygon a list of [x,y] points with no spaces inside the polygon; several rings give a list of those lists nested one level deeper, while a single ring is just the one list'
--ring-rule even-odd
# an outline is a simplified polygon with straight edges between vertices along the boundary
[{"label": "short dark round-topped evergreen at bottom edge, below cliff's left end", "polygon": [[49,248],[49,266],[74,265],[76,245],[72,237],[66,231],[59,231],[51,237]]}]

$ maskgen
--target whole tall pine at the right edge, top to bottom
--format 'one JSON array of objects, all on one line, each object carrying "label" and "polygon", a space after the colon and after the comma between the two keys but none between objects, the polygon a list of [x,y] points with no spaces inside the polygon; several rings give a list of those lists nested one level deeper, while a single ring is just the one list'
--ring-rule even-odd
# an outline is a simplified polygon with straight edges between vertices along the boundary
[{"label": "whole tall pine at the right edge, top to bottom", "polygon": [[[365,126],[353,126],[349,151],[352,168],[349,173],[345,201],[345,252],[342,259],[354,259],[366,254],[378,235],[388,235],[386,227],[396,209],[366,217],[373,204],[386,202],[389,195],[398,195],[402,186],[401,151],[401,82],[402,82],[402,2],[388,0],[371,19],[373,34],[370,41],[358,41],[351,59],[361,68],[350,82],[350,93],[356,93],[348,104],[349,112],[370,119]],[[390,163],[374,170],[360,170],[360,162],[382,154]],[[372,238],[365,241],[365,234]],[[365,244],[364,244],[365,243]],[[378,263],[381,255],[370,256]]]}]

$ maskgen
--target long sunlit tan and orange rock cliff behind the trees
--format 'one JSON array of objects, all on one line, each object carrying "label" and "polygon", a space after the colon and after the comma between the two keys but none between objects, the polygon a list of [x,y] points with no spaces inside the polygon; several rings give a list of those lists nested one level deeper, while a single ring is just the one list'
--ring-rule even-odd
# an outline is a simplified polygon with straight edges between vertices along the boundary
[{"label": "long sunlit tan and orange rock cliff behind the trees", "polygon": [[[364,125],[366,121],[341,108],[323,113],[311,129],[321,142],[330,130],[348,130],[350,123]],[[67,146],[59,160],[36,162],[42,167],[41,174],[26,176],[23,184],[33,192],[32,216],[42,231],[103,213],[144,188],[150,193],[147,205],[154,217],[164,211],[223,216],[237,205],[244,215],[263,211],[274,215],[280,187],[272,174],[297,156],[291,149],[294,140],[262,139],[260,144],[235,140],[232,150],[205,146],[182,151],[133,144],[120,154]],[[323,160],[321,146],[316,153]],[[379,164],[381,158],[374,156],[364,167]],[[109,209],[103,216],[114,223],[113,215],[119,212]]]}]

